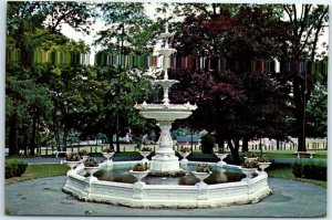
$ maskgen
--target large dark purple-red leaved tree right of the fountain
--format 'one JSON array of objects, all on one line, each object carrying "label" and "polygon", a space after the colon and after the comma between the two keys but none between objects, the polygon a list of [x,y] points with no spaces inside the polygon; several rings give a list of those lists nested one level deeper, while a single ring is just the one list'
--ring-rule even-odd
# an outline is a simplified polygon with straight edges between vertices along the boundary
[{"label": "large dark purple-red leaved tree right of the fountain", "polygon": [[180,84],[172,94],[177,102],[197,102],[191,123],[216,132],[220,146],[226,139],[236,163],[240,139],[246,145],[251,138],[286,136],[280,123],[289,88],[274,81],[278,74],[256,72],[250,63],[255,57],[281,56],[288,36],[287,25],[271,10],[253,6],[240,8],[235,15],[227,11],[190,14],[174,43],[180,54],[241,62],[240,67],[227,66],[228,71],[177,73]]}]

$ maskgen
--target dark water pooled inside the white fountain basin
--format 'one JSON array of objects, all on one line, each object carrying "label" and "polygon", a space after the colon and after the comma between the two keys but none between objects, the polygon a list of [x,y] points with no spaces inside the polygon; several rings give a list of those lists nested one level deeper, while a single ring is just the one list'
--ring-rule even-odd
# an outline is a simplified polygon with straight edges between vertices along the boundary
[{"label": "dark water pooled inside the white fountain basin", "polygon": [[[181,185],[181,186],[194,186],[199,180],[190,172],[194,166],[188,166],[186,175],[183,177],[153,177],[147,176],[142,180],[147,185]],[[135,177],[129,174],[129,168],[115,168],[112,170],[100,170],[94,176],[98,180],[115,181],[115,182],[126,182],[134,184],[136,181]],[[212,174],[205,179],[208,185],[222,184],[222,182],[234,182],[240,181],[245,175],[234,170],[220,169],[212,167]]]}]

